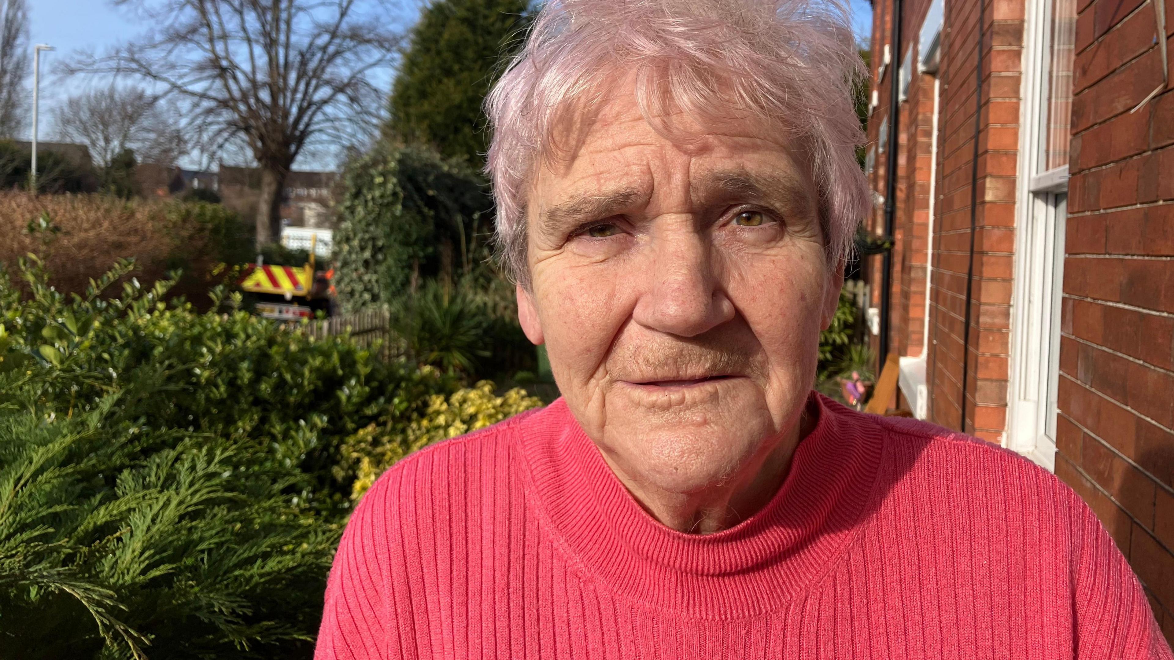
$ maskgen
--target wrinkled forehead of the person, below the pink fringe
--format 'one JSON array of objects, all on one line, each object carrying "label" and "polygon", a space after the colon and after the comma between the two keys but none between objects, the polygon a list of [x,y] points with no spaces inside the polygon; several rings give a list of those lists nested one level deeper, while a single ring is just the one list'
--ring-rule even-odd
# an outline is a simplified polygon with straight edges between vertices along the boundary
[{"label": "wrinkled forehead of the person, below the pink fringe", "polygon": [[[648,203],[670,186],[694,204],[729,195],[774,198],[799,210],[817,204],[809,150],[790,132],[697,116],[687,108],[649,107],[625,85],[595,101],[566,112],[535,163],[527,195],[532,222],[568,204]],[[654,171],[673,181],[656,181]]]}]

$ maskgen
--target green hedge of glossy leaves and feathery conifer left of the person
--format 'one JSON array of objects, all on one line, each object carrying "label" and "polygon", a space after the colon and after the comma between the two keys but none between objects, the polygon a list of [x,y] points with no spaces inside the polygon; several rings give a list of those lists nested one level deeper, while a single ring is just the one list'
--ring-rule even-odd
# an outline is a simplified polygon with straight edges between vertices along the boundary
[{"label": "green hedge of glossy leaves and feathery conifer left of the person", "polygon": [[0,655],[309,658],[350,457],[457,383],[166,281],[103,299],[130,269],[0,277]]}]

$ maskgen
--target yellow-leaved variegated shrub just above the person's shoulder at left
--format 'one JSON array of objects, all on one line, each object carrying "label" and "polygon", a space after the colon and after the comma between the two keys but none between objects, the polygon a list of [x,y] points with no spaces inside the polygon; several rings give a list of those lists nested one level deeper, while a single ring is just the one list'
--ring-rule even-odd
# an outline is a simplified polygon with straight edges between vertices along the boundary
[{"label": "yellow-leaved variegated shrub just above the person's shoulder at left", "polygon": [[519,412],[539,408],[542,402],[526,390],[514,388],[494,396],[493,383],[481,380],[472,388],[457,390],[448,397],[432,395],[427,409],[414,415],[406,429],[397,432],[394,424],[371,424],[348,440],[358,459],[357,478],[351,497],[358,499],[376,478],[410,452],[447,438],[456,438]]}]

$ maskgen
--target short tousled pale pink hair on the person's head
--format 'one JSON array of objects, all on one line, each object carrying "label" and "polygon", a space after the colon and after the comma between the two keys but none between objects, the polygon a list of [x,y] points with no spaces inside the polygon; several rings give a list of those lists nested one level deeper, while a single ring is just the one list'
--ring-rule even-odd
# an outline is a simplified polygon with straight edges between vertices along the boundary
[{"label": "short tousled pale pink hair on the person's head", "polygon": [[864,70],[849,26],[837,0],[548,0],[485,103],[507,272],[529,284],[525,209],[537,164],[559,157],[558,139],[625,75],[662,134],[673,127],[655,117],[681,110],[701,126],[749,122],[799,144],[828,256],[845,257],[870,202],[852,102]]}]

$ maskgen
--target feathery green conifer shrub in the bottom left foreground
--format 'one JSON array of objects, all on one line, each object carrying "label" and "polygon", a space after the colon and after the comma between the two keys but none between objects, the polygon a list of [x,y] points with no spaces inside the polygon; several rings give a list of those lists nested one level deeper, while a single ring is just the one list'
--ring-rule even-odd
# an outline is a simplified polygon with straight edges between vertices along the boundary
[{"label": "feathery green conifer shrub in the bottom left foreground", "polygon": [[291,494],[311,487],[274,460],[291,447],[153,427],[121,393],[58,410],[6,389],[4,656],[310,656],[342,520]]}]

